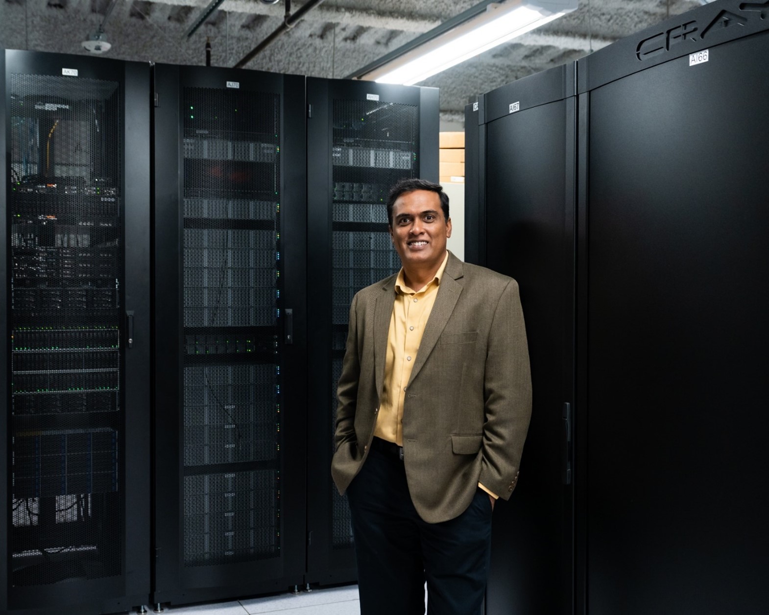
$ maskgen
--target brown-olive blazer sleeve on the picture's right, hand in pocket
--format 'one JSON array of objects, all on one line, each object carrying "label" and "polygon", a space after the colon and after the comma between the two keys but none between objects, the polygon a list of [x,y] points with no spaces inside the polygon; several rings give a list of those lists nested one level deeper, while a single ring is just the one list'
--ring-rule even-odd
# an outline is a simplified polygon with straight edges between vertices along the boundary
[{"label": "brown-olive blazer sleeve on the picture's right, hand in pocket", "polygon": [[531,417],[531,371],[518,283],[502,292],[488,337],[485,423],[478,481],[507,500],[518,482]]}]

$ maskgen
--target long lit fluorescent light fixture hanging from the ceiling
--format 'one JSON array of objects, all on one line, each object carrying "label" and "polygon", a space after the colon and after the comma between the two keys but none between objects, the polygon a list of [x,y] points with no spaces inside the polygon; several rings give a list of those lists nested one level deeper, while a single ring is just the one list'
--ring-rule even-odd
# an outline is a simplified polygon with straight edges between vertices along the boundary
[{"label": "long lit fluorescent light fixture hanging from the ceiling", "polygon": [[578,0],[481,2],[350,77],[414,85],[572,12]]}]

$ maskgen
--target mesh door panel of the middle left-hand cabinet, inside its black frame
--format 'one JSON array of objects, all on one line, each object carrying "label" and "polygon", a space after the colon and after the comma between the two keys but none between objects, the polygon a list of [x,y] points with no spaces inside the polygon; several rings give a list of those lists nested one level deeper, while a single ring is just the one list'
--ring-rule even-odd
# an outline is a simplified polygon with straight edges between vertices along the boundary
[{"label": "mesh door panel of the middle left-hand cabinet, inside its black frame", "polygon": [[281,549],[280,97],[183,88],[183,566]]}]

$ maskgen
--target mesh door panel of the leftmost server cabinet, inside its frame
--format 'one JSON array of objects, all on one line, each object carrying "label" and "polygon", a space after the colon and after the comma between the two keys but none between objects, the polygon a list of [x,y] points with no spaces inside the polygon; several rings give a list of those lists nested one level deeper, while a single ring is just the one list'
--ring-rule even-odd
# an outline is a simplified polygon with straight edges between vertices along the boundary
[{"label": "mesh door panel of the leftmost server cabinet, inside its frame", "polygon": [[12,73],[10,587],[123,573],[121,101]]}]

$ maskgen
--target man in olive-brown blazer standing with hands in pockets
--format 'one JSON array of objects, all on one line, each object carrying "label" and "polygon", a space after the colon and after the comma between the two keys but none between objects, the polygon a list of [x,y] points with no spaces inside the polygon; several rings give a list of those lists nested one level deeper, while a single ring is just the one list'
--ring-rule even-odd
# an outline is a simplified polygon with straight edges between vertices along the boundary
[{"label": "man in olive-brown blazer standing with hands in pockets", "polygon": [[448,195],[388,197],[402,268],[355,295],[331,474],[348,493],[362,615],[475,615],[491,512],[518,482],[531,377],[518,284],[446,250]]}]

